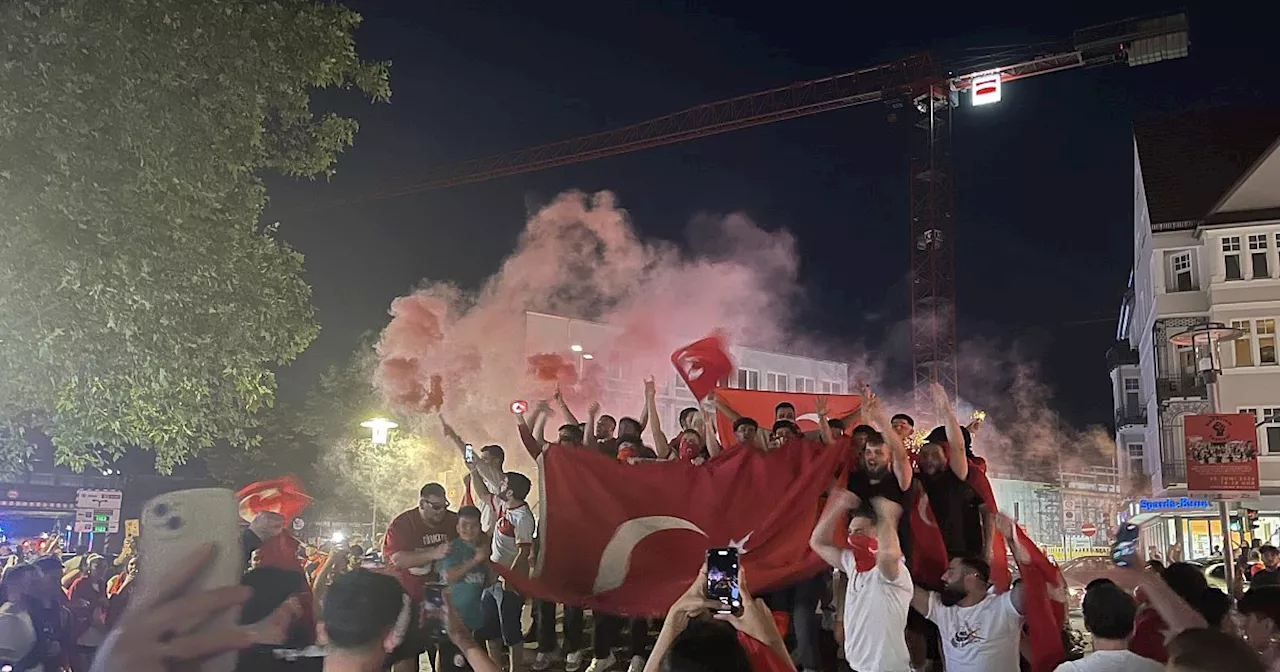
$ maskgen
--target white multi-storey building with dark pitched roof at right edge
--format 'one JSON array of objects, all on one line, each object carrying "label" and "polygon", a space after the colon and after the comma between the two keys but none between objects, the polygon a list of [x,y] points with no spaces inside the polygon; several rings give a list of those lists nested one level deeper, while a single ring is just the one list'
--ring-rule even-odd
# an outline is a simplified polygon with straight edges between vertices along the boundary
[{"label": "white multi-storey building with dark pitched roof at right edge", "polygon": [[1187,557],[1221,543],[1211,511],[1164,506],[1187,494],[1183,417],[1211,404],[1193,352],[1169,338],[1204,323],[1245,333],[1222,348],[1220,411],[1261,422],[1262,502],[1251,506],[1263,511],[1258,532],[1280,532],[1277,111],[1216,109],[1134,128],[1134,269],[1107,357],[1117,462],[1149,484],[1140,511],[1164,518],[1148,541],[1181,541]]}]

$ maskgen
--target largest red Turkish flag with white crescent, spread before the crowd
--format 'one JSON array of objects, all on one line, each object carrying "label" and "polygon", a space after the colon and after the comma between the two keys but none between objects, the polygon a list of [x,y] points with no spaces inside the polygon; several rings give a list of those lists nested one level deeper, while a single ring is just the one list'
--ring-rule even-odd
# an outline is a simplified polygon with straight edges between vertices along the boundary
[{"label": "largest red Turkish flag with white crescent, spread before the crowd", "polygon": [[541,548],[531,577],[503,576],[548,602],[658,617],[709,548],[737,547],[755,594],[822,571],[809,535],[847,452],[795,440],[769,453],[731,449],[701,466],[628,465],[556,445],[538,462]]}]

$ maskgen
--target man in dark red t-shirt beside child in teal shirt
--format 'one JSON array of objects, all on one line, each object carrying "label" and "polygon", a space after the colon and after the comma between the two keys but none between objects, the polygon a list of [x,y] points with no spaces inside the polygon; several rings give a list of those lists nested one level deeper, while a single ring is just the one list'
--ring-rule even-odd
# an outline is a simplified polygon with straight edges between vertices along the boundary
[{"label": "man in dark red t-shirt beside child in teal shirt", "polygon": [[[449,511],[449,498],[439,483],[429,483],[419,493],[417,507],[392,520],[383,539],[383,558],[396,570],[404,593],[413,600],[413,621],[404,643],[392,652],[394,672],[417,672],[417,658],[433,646],[420,630],[417,618],[424,586],[440,584],[435,567],[458,538],[458,515]],[[434,652],[433,652],[434,655]]]}]

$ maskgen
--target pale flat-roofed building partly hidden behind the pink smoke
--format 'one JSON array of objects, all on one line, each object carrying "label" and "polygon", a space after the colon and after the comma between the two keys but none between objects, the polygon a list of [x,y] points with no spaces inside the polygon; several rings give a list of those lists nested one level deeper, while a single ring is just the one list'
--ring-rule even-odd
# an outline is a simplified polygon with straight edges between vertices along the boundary
[{"label": "pale flat-roofed building partly hidden behind the pink smoke", "polygon": [[[605,394],[603,412],[616,417],[639,416],[644,407],[644,379],[626,365],[608,361],[604,355],[621,335],[616,326],[575,320],[559,315],[526,312],[525,352],[536,355],[558,352],[566,357],[577,357],[580,371],[591,366],[603,369]],[[701,338],[691,335],[681,344]],[[737,365],[737,374],[731,376],[728,387],[745,389],[769,389],[780,392],[809,392],[845,394],[849,388],[849,365],[812,357],[799,357],[780,352],[730,346],[730,355]],[[676,375],[675,367],[667,365],[669,375],[658,376],[658,412],[662,426],[668,433],[678,428],[677,417],[681,408],[696,406],[692,393]],[[585,410],[573,410],[585,421]],[[672,433],[673,434],[673,433]]]}]

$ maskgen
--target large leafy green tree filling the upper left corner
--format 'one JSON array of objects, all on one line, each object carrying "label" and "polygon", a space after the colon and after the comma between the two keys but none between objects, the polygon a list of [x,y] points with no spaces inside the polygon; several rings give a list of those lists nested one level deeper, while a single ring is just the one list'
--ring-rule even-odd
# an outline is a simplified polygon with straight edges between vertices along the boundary
[{"label": "large leafy green tree filling the upper left corner", "polygon": [[0,465],[32,428],[74,468],[255,443],[271,367],[317,332],[260,174],[325,175],[352,143],[312,90],[389,97],[358,23],[314,0],[0,8]]}]

